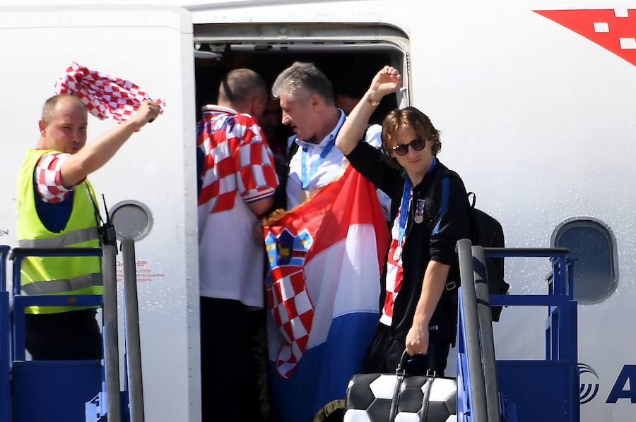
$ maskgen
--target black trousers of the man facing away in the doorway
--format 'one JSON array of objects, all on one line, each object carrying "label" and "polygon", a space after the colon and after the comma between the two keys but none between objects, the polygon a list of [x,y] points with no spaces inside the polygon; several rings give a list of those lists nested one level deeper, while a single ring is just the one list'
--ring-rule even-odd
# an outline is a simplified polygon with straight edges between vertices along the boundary
[{"label": "black trousers of the man facing away in the doorway", "polygon": [[230,299],[200,299],[201,421],[261,421],[247,308]]}]

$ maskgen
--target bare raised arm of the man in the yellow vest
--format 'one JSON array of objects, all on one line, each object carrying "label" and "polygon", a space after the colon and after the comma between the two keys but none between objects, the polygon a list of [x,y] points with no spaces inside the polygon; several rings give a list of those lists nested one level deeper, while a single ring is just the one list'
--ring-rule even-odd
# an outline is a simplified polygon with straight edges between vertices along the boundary
[{"label": "bare raised arm of the man in the yellow vest", "polygon": [[64,186],[72,186],[99,169],[112,158],[126,140],[159,115],[156,102],[145,101],[131,118],[86,144],[61,165]]}]

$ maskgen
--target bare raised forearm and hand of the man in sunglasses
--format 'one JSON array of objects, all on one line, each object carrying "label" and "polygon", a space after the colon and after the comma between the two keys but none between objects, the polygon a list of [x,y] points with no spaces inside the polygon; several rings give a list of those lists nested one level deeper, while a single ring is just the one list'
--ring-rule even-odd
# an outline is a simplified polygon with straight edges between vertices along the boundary
[{"label": "bare raised forearm and hand of the man in sunglasses", "polygon": [[375,75],[363,99],[351,110],[351,114],[338,133],[338,138],[336,138],[338,150],[341,150],[344,155],[353,151],[355,145],[358,145],[360,138],[363,137],[369,118],[375,111],[377,104],[385,95],[399,90],[401,83],[400,73],[391,66],[384,66]]}]

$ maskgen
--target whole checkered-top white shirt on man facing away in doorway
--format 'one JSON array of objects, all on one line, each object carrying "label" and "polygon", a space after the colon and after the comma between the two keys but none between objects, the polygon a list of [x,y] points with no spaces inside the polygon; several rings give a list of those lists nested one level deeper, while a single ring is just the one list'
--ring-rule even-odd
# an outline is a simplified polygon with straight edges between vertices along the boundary
[{"label": "whole checkered-top white shirt on man facing away in doorway", "polygon": [[247,203],[273,195],[274,159],[248,114],[207,106],[196,131],[199,169],[199,293],[264,304],[262,243]]}]

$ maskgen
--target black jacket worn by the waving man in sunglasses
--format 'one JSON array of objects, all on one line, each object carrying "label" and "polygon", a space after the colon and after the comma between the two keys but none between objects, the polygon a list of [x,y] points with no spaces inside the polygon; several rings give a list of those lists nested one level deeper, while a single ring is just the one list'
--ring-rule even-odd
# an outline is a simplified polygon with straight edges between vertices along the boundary
[{"label": "black jacket worn by the waving man in sunglasses", "polygon": [[[347,159],[356,170],[391,198],[392,227],[401,203],[406,173],[391,167],[382,152],[365,143],[359,143],[347,155]],[[447,167],[437,161],[430,174],[413,187],[413,203],[409,207],[406,240],[402,252],[404,279],[394,303],[391,325],[392,337],[398,339],[406,338],[409,328],[413,325],[413,314],[420,299],[424,273],[430,260],[451,266],[447,282],[454,281],[459,285],[455,246],[459,239],[469,237],[468,201],[461,180],[447,176],[437,177],[437,172],[445,170]],[[433,181],[435,187],[432,188],[431,198],[426,198]],[[413,219],[418,200],[422,201],[422,204],[429,201],[425,209],[430,212],[420,223]],[[380,309],[384,304],[386,274],[385,263],[381,279]],[[444,291],[432,315],[430,326],[431,339],[454,343],[457,334],[456,291],[452,294]]]}]

